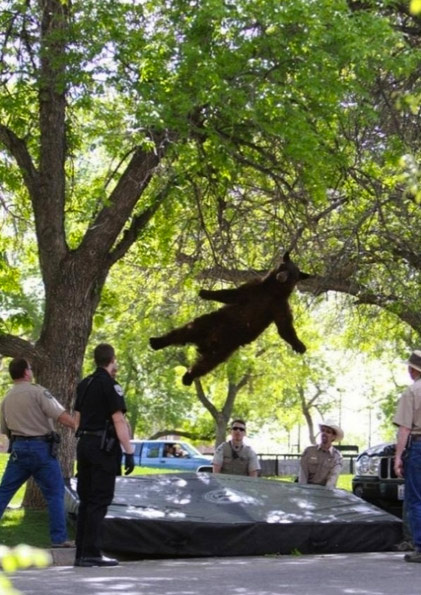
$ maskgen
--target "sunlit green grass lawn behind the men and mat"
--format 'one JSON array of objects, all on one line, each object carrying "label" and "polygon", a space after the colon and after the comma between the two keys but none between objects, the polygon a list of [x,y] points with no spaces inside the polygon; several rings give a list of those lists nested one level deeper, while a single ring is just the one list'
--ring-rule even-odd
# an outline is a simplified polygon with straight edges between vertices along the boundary
[{"label": "sunlit green grass lawn behind the men and mat", "polygon": [[[4,467],[9,455],[0,453],[0,477],[3,475]],[[161,469],[146,469],[137,467],[133,475],[146,475],[162,473]],[[170,472],[170,471],[169,471]],[[294,477],[285,476],[272,479],[293,481]],[[340,475],[338,488],[352,491],[352,475]],[[9,509],[0,520],[0,546],[13,547],[20,543],[26,543],[34,547],[49,547],[50,537],[48,532],[48,515],[46,510],[26,510],[20,507],[25,492],[23,486],[13,497]],[[74,527],[69,524],[69,538],[74,539]]]}]

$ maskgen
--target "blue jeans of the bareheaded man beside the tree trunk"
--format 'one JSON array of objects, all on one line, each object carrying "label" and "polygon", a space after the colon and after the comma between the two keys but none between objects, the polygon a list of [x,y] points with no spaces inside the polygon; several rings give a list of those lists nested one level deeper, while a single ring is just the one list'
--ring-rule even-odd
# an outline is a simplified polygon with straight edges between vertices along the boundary
[{"label": "blue jeans of the bareheaded man beside the tree trunk", "polygon": [[18,489],[30,477],[40,488],[48,507],[52,543],[67,539],[64,510],[64,481],[60,466],[50,454],[50,444],[37,440],[15,440],[0,484],[0,518]]}]

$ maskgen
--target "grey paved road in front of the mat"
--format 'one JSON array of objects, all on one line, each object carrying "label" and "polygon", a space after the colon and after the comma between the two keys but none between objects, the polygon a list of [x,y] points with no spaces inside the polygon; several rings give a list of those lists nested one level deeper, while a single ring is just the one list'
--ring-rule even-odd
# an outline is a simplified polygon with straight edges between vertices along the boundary
[{"label": "grey paved road in front of the mat", "polygon": [[420,595],[421,565],[390,552],[166,559],[25,570],[13,583],[25,595]]}]

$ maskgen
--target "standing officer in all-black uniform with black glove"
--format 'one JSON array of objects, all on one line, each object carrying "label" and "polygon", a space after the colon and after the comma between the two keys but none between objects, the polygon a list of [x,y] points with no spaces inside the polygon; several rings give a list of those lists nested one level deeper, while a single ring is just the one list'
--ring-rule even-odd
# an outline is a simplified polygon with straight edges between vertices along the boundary
[{"label": "standing officer in all-black uniform with black glove", "polygon": [[77,387],[75,419],[77,445],[77,493],[79,509],[76,529],[75,566],[117,566],[102,555],[101,523],[114,496],[125,450],[125,474],[134,469],[126,404],[121,386],[114,380],[117,363],[114,348],[101,343],[95,348],[97,369]]}]

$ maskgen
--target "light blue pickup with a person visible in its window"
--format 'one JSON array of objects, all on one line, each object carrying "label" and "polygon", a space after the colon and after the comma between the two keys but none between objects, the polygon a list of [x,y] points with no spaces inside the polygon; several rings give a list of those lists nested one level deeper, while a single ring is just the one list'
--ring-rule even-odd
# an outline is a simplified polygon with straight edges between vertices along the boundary
[{"label": "light blue pickup with a person visible in its window", "polygon": [[212,457],[202,455],[188,442],[176,440],[131,440],[135,465],[155,469],[212,471]]}]

